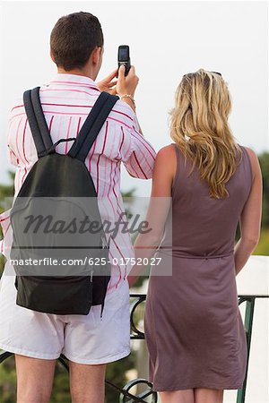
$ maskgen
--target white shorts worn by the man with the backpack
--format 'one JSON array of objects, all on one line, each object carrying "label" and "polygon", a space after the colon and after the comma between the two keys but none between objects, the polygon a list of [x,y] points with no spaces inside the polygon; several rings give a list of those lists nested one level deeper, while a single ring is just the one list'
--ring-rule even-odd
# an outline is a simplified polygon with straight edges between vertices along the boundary
[{"label": "white shorts worn by the man with the backpack", "polygon": [[14,276],[0,281],[0,348],[22,356],[105,364],[130,354],[129,286],[123,281],[88,315],[39,313],[16,304]]}]

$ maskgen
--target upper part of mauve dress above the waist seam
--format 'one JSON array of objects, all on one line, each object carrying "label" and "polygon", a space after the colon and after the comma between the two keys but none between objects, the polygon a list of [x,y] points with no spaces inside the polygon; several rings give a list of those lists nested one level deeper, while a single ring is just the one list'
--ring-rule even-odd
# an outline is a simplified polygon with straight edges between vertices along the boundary
[{"label": "upper part of mauve dress above the waist seam", "polygon": [[[233,253],[240,213],[252,184],[247,150],[226,184],[229,197],[210,197],[208,184],[201,180],[198,167],[188,176],[192,161],[173,144],[177,171],[172,184],[172,236],[175,255],[222,255]],[[164,240],[165,242],[165,240]]]}]

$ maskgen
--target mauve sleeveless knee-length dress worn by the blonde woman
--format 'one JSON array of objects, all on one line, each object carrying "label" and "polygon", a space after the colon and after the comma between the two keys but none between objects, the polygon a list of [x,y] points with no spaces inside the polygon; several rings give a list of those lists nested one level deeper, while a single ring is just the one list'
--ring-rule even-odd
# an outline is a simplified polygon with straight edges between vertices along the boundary
[{"label": "mauve sleeveless knee-length dress worn by the blonde woman", "polygon": [[[209,197],[208,185],[178,145],[172,185],[172,253],[167,231],[152,266],[144,313],[153,390],[241,389],[247,339],[239,312],[233,250],[240,213],[252,185],[247,150],[226,184],[230,197]],[[239,159],[238,159],[239,161]],[[163,247],[163,249],[162,249]],[[156,271],[157,273],[157,271]]]}]

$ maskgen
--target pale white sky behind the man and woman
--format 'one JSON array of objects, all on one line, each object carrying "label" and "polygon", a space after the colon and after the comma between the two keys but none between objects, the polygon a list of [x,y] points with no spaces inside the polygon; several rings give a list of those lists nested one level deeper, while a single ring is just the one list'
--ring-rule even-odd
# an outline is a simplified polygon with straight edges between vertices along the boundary
[{"label": "pale white sky behind the man and woman", "polygon": [[[269,150],[267,2],[1,2],[0,183],[10,169],[6,155],[8,114],[24,90],[50,81],[49,35],[57,19],[86,11],[100,19],[105,37],[97,81],[117,68],[117,47],[129,45],[139,76],[137,116],[156,150],[169,144],[169,110],[182,75],[199,68],[221,72],[228,82],[236,140],[256,153]],[[148,195],[151,181],[123,168],[123,191]]]}]

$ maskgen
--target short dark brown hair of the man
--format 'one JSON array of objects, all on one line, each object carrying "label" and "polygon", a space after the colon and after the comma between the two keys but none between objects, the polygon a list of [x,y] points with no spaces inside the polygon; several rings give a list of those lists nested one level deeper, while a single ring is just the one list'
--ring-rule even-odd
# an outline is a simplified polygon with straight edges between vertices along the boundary
[{"label": "short dark brown hair of the man", "polygon": [[65,71],[82,68],[104,38],[100,21],[91,13],[72,13],[61,17],[50,34],[50,48],[58,67]]}]

